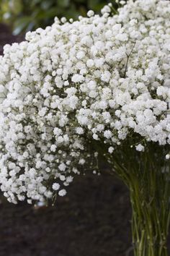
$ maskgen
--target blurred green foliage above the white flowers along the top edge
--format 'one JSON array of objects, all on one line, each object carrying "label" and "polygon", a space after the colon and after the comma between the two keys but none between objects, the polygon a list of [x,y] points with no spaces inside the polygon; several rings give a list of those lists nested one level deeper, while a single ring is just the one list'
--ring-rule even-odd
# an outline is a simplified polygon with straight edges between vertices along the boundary
[{"label": "blurred green foliage above the white flowers along the top edge", "polygon": [[107,0],[0,0],[0,22],[12,27],[14,35],[46,27],[54,17],[77,19],[89,9],[99,12]]}]

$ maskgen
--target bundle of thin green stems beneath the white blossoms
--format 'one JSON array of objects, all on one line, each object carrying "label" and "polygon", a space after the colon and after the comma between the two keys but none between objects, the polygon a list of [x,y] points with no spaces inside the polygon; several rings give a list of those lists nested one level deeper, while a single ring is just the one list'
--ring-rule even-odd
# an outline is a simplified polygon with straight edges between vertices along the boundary
[{"label": "bundle of thin green stems beneath the white blossoms", "polygon": [[110,162],[130,191],[134,256],[168,256],[169,162],[154,148],[145,153],[133,149],[121,153]]}]

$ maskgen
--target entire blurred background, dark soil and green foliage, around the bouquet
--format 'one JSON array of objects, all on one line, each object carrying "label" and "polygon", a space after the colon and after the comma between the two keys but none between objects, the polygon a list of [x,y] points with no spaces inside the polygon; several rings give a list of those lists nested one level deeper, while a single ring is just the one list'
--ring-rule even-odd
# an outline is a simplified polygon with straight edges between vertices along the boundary
[{"label": "entire blurred background, dark soil and green foliage, around the bouquet", "polygon": [[[0,54],[6,43],[53,23],[86,15],[102,0],[0,0]],[[115,5],[116,7],[116,5]],[[0,195],[0,256],[131,256],[128,190],[103,169],[77,176],[55,206],[12,205]]]}]

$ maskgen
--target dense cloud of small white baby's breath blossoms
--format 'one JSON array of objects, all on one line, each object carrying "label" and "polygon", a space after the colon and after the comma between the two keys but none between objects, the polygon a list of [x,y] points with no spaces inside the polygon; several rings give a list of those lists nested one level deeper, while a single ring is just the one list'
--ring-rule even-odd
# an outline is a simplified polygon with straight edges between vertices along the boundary
[{"label": "dense cloud of small white baby's breath blossoms", "polygon": [[66,195],[91,140],[109,154],[130,134],[143,137],[139,151],[170,144],[169,1],[129,0],[114,16],[112,4],[87,15],[56,18],[4,47],[0,183],[9,202]]}]

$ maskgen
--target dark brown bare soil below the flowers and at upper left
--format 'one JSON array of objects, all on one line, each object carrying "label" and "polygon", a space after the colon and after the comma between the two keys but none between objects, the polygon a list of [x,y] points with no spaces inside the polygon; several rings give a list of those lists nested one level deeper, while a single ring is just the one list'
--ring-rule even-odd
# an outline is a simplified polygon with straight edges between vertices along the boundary
[{"label": "dark brown bare soil below the flowers and at upper left", "polygon": [[[0,25],[1,54],[19,40]],[[0,256],[131,256],[130,215],[127,189],[107,173],[77,176],[54,207],[1,197]]]}]

